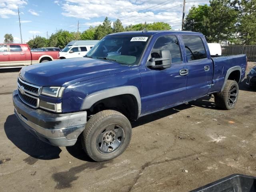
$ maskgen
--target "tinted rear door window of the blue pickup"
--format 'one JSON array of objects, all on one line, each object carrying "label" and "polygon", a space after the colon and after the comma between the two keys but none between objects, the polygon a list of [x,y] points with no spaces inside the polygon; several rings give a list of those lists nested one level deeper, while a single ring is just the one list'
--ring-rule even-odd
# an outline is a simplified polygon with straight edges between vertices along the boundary
[{"label": "tinted rear door window of the blue pickup", "polygon": [[188,61],[207,58],[204,44],[199,36],[183,36]]}]

